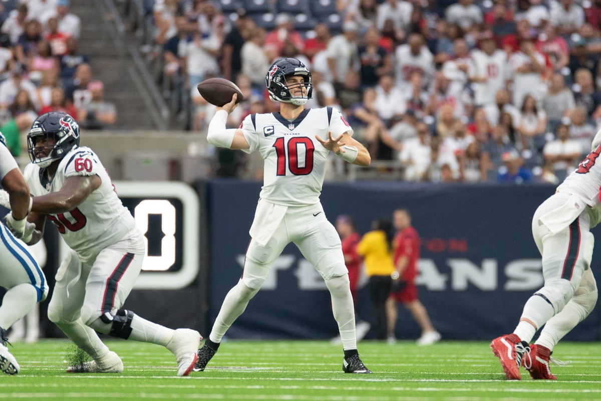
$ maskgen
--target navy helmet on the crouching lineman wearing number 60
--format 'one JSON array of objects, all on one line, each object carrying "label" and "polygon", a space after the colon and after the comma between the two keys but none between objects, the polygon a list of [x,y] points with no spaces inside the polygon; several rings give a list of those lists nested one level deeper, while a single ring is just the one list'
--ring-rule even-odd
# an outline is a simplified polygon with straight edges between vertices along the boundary
[{"label": "navy helmet on the crouching lineman wearing number 60", "polygon": [[[36,144],[40,139],[54,138],[54,145],[47,156],[35,155]],[[27,134],[27,150],[31,162],[40,167],[48,167],[53,161],[64,158],[73,148],[79,146],[79,125],[69,114],[50,111],[40,115]]]}]

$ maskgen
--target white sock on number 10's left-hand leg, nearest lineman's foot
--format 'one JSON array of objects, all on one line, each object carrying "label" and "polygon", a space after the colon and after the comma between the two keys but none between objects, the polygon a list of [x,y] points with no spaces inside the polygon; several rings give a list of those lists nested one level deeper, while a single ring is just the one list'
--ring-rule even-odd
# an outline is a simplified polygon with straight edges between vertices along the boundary
[{"label": "white sock on number 10's left-hand leg, nearest lineman's foot", "polygon": [[245,311],[246,305],[248,305],[248,302],[255,296],[258,290],[259,289],[250,289],[242,282],[242,280],[240,280],[238,281],[238,284],[227,293],[224,303],[221,305],[221,309],[217,314],[211,333],[209,334],[209,339],[213,341],[213,343],[221,343],[221,338],[223,338],[227,329],[230,328],[238,316]]}]

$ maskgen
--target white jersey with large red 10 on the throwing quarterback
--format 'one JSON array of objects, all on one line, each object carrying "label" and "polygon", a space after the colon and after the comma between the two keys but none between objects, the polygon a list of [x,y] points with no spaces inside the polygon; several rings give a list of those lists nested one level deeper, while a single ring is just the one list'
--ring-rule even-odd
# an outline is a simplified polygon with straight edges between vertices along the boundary
[{"label": "white jersey with large red 10 on the throwing quarterback", "polygon": [[319,203],[329,150],[315,138],[336,138],[353,130],[338,109],[305,109],[294,121],[279,112],[248,115],[240,126],[249,149],[264,160],[260,197],[284,206]]}]

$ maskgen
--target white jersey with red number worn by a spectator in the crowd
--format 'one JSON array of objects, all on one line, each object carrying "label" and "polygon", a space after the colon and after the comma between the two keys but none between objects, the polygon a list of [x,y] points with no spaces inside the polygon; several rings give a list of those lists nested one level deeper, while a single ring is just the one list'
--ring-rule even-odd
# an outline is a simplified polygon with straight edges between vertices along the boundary
[{"label": "white jersey with red number worn by a spectator in the crowd", "polygon": [[507,79],[507,54],[497,50],[492,55],[483,51],[472,52],[469,76],[486,77],[486,82],[474,82],[474,103],[485,105],[495,102],[496,91],[505,87]]}]

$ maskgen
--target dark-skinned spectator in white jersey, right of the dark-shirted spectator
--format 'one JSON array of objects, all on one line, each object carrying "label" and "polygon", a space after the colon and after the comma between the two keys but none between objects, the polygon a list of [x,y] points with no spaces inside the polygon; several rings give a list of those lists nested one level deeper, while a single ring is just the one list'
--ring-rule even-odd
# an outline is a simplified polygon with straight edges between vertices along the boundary
[{"label": "dark-skinned spectator in white jersey, right of the dark-shirted spectator", "polygon": [[406,87],[409,78],[416,71],[422,73],[424,85],[430,85],[434,75],[433,57],[421,34],[410,34],[407,44],[398,46],[394,57],[397,86]]}]

